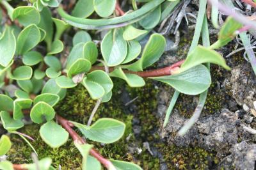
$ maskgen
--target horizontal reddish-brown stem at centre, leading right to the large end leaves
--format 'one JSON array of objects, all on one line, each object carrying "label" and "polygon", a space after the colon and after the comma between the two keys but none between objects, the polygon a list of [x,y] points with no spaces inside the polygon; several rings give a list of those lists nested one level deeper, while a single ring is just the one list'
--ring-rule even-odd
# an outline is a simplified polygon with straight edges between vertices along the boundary
[{"label": "horizontal reddish-brown stem at centre, leading right to the large end leaves", "polygon": [[[184,63],[184,60],[179,61],[177,63],[174,63],[171,66],[166,66],[164,68],[158,68],[156,70],[149,70],[149,71],[143,71],[143,72],[132,72],[129,70],[123,70],[124,73],[132,73],[139,75],[140,77],[159,77],[164,75],[172,75],[172,72],[179,69],[179,67]],[[104,66],[92,66],[92,69],[90,72],[94,70],[105,70]],[[115,70],[114,67],[109,68],[109,72],[113,72]]]}]

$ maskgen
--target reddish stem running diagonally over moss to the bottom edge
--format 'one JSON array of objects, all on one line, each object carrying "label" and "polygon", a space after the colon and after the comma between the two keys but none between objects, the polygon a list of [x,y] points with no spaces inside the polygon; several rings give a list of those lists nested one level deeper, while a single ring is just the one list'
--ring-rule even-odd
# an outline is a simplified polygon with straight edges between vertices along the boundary
[{"label": "reddish stem running diagonally over moss to the bottom edge", "polygon": [[[74,141],[80,144],[86,143],[86,141],[81,136],[79,136],[75,130],[72,129],[72,127],[74,126],[72,125],[72,123],[70,123],[68,120],[65,120],[65,118],[62,118],[59,115],[56,115],[56,118],[57,121],[61,124],[61,126],[67,130],[68,134],[72,137]],[[109,169],[110,167],[113,167],[113,164],[108,159],[102,157],[102,155],[100,155],[98,151],[91,149],[90,154],[93,157],[97,158],[97,160],[99,160],[99,162],[106,168]]]}]

